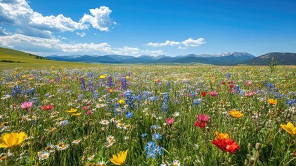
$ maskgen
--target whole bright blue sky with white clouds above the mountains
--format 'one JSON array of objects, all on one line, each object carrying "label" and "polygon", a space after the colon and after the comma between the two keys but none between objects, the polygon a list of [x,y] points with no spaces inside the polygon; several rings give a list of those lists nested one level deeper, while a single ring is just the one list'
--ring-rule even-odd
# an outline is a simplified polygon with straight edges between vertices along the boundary
[{"label": "whole bright blue sky with white clouds above the mountains", "polygon": [[295,53],[295,8],[294,0],[0,0],[0,46],[44,56]]}]

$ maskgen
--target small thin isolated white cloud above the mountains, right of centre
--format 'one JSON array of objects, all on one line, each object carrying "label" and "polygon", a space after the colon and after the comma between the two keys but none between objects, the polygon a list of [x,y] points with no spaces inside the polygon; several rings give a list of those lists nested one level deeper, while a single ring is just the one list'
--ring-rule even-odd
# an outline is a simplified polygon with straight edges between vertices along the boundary
[{"label": "small thin isolated white cloud above the mountains, right of centre", "polygon": [[[179,49],[186,49],[189,46],[196,47],[196,46],[199,46],[201,44],[206,44],[206,41],[204,40],[204,38],[199,38],[199,39],[189,38],[189,39],[184,40],[183,42],[172,42],[172,41],[169,41],[169,40],[167,40],[164,43],[152,43],[152,42],[150,42],[147,45],[152,46],[152,47],[179,46],[178,47]],[[186,46],[186,47],[183,47],[182,45]]]}]

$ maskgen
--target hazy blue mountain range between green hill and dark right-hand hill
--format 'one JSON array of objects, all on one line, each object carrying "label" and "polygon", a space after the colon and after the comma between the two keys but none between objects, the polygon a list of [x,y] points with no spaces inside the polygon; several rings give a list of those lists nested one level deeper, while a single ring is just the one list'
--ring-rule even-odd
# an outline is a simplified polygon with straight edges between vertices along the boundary
[{"label": "hazy blue mountain range between green hill and dark right-hand hill", "polygon": [[68,62],[97,62],[107,64],[163,64],[163,63],[202,63],[202,64],[214,64],[214,65],[235,65],[245,62],[246,60],[255,58],[254,55],[249,53],[222,53],[219,55],[210,54],[188,54],[179,55],[177,57],[169,57],[166,55],[150,56],[129,56],[129,55],[69,55],[59,56],[50,55],[46,57],[52,60],[68,61]]}]

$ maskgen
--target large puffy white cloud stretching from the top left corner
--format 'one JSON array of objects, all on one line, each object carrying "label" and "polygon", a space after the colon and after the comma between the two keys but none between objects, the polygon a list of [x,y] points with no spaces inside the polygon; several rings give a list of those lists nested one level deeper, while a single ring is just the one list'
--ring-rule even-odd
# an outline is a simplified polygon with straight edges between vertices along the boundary
[{"label": "large puffy white cloud stretching from the top left corner", "polygon": [[90,25],[99,30],[108,31],[116,24],[110,19],[110,10],[106,6],[90,9],[91,15],[84,15],[79,21],[73,21],[63,15],[43,16],[34,12],[26,0],[0,0],[0,24],[17,27],[17,33],[34,37],[52,37],[52,33],[88,29]]}]

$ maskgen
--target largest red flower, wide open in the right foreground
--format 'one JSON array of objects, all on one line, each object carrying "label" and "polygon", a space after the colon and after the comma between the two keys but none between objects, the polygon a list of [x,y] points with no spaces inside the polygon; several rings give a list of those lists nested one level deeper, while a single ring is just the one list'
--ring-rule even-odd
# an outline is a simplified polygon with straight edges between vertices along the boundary
[{"label": "largest red flower, wide open in the right foreground", "polygon": [[235,151],[239,149],[239,145],[237,145],[237,142],[235,140],[230,140],[230,138],[227,139],[219,139],[216,138],[211,142],[213,145],[221,149],[222,151],[228,151],[231,154],[235,154]]}]

